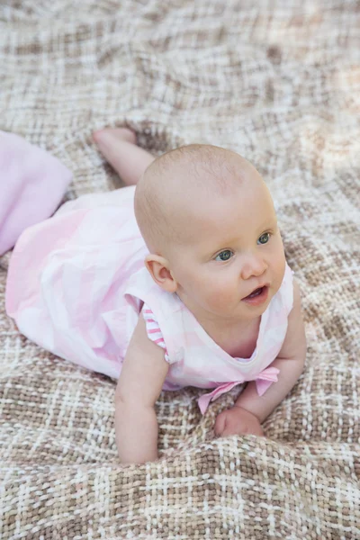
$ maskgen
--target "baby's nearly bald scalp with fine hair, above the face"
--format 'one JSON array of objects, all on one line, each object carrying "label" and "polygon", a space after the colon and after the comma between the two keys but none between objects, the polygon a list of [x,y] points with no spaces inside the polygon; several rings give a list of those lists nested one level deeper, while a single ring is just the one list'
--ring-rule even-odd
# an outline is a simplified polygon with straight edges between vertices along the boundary
[{"label": "baby's nearly bald scalp with fine hair, above the face", "polygon": [[257,169],[231,150],[189,145],[157,157],[139,179],[135,215],[151,253],[185,240],[199,205],[263,182]]}]

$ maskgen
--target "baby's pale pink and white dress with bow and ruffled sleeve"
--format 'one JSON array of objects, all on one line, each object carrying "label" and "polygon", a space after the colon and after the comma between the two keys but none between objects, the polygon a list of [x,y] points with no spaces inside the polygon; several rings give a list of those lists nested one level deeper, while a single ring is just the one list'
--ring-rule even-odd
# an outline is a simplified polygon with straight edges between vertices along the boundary
[{"label": "baby's pale pink and white dress with bow and ruffled sleeve", "polygon": [[[202,412],[221,393],[276,381],[277,356],[293,307],[293,276],[262,316],[250,358],[232,358],[202,329],[176,294],[162,291],[144,266],[148,249],[134,211],[134,187],[82,196],[26,229],[10,261],[6,311],[20,331],[57,356],[118,378],[142,310],[148,338],[166,351],[164,389],[209,388]],[[145,305],[144,305],[145,303]]]}]

